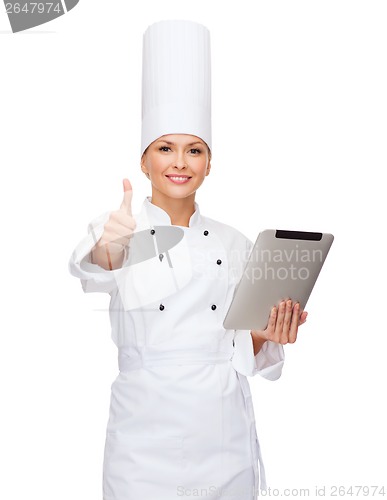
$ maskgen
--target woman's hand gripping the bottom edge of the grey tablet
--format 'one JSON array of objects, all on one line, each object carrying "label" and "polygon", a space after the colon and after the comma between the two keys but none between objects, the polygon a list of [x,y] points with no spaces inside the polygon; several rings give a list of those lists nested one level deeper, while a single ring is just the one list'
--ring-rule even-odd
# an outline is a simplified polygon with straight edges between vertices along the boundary
[{"label": "woman's hand gripping the bottom edge of the grey tablet", "polygon": [[[265,330],[252,330],[254,344],[262,346],[267,340],[277,344],[293,344],[297,339],[298,327],[305,323],[308,313],[300,314],[300,304],[289,299],[273,307]],[[256,349],[254,349],[255,351]]]}]

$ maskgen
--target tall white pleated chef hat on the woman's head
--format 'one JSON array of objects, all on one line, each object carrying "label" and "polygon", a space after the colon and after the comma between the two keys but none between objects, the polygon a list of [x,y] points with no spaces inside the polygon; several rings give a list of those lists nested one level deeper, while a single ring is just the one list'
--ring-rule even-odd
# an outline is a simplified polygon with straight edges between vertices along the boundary
[{"label": "tall white pleated chef hat on the woman's head", "polygon": [[166,134],[211,149],[210,32],[193,21],[159,21],[143,37],[141,155]]}]

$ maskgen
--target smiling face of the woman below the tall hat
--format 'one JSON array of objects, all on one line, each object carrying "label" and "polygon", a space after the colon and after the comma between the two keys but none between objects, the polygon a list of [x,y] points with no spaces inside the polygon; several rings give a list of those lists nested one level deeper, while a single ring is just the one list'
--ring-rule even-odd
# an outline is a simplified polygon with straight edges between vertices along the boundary
[{"label": "smiling face of the woman below the tall hat", "polygon": [[152,142],[141,158],[141,170],[152,183],[152,196],[186,198],[210,173],[207,144],[195,135],[169,134]]}]

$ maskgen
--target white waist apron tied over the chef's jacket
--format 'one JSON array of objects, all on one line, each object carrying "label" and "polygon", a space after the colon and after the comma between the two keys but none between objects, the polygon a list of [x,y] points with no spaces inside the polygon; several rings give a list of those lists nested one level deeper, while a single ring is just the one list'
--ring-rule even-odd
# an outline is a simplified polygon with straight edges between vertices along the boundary
[{"label": "white waist apron tied over the chef's jacket", "polygon": [[[246,377],[234,370],[231,360],[232,349],[226,346],[223,350],[212,352],[205,349],[162,352],[146,347],[136,355],[129,355],[125,348],[119,350],[120,374],[112,386],[106,432],[104,500],[170,500],[178,498],[179,493],[180,496],[194,496],[198,492],[205,498],[257,498],[259,488],[266,488],[266,479],[252,398]],[[144,377],[138,380],[140,372],[151,375],[149,379]],[[203,373],[199,377],[201,384],[195,376],[200,372]],[[214,385],[210,382],[211,372],[216,379]],[[226,372],[229,372],[229,377],[224,375]],[[136,376],[134,383],[133,377]],[[183,384],[179,382],[181,379],[193,379],[195,382]],[[229,380],[220,392],[219,379]],[[159,380],[162,381],[161,390]],[[155,401],[147,400],[140,412],[143,420],[125,422],[125,414],[130,415],[143,406],[144,399],[147,399],[144,398],[145,394],[163,394],[166,385],[168,391],[184,392],[188,400],[192,398],[192,393],[201,393],[203,398],[187,405],[181,400],[181,393],[178,393],[180,411],[176,404],[170,405],[162,398],[161,404],[158,398]],[[129,402],[123,386],[127,387],[127,391],[135,391],[137,399],[132,395]],[[238,406],[233,408],[232,403],[236,401]],[[211,408],[205,411],[207,415],[201,415],[198,408],[200,403]],[[152,404],[156,417],[148,413],[152,410]],[[202,420],[201,416],[207,416],[210,420]],[[148,429],[152,428],[156,419],[171,424],[166,428],[157,427],[152,435]],[[238,431],[229,433],[223,429],[222,432],[222,424],[226,427],[225,420],[231,426],[239,427]],[[204,432],[203,427],[207,427]],[[196,439],[198,434],[200,437]],[[201,447],[201,450],[196,446]],[[231,455],[230,450],[235,458],[227,458]],[[207,459],[207,463],[199,467],[199,462],[204,459]]]}]

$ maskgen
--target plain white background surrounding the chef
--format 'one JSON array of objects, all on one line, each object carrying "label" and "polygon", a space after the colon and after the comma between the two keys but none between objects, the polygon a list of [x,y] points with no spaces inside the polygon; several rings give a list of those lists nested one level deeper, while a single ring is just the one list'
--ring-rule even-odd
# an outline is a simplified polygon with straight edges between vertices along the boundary
[{"label": "plain white background surrounding the chef", "polygon": [[102,497],[109,296],[84,294],[67,262],[123,177],[134,211],[151,194],[141,46],[161,19],[211,31],[201,212],[252,240],[335,235],[282,378],[249,379],[268,484],[386,484],[386,3],[81,0],[18,34],[0,14],[1,496]]}]

